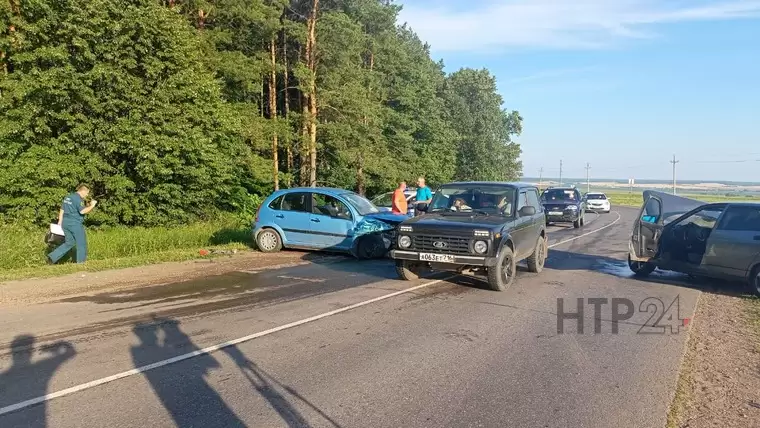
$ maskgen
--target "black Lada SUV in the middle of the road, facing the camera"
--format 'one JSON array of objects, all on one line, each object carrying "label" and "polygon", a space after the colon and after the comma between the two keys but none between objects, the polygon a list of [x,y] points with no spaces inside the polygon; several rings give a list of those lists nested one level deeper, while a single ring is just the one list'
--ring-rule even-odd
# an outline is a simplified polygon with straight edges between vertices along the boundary
[{"label": "black Lada SUV in the middle of the road, facing the camera", "polygon": [[423,216],[397,226],[391,258],[401,279],[422,272],[482,275],[491,289],[514,282],[517,262],[541,272],[548,245],[538,189],[501,182],[449,183],[436,190]]}]

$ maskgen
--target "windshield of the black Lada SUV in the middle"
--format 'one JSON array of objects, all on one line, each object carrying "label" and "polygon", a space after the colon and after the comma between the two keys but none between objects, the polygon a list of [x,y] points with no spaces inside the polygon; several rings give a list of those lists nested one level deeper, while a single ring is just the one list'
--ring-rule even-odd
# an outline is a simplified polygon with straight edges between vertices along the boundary
[{"label": "windshield of the black Lada SUV in the middle", "polygon": [[478,212],[512,215],[513,187],[499,185],[445,186],[430,201],[428,212]]}]

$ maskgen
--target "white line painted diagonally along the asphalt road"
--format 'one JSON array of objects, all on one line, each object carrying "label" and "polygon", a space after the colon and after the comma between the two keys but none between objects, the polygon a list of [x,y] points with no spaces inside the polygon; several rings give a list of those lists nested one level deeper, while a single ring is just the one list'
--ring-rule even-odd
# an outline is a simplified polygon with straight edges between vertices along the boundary
[{"label": "white line painted diagonally along the asphalt road", "polygon": [[[567,242],[570,242],[570,241],[575,241],[576,239],[583,238],[584,236],[591,235],[592,233],[599,232],[600,230],[606,229],[606,228],[614,225],[615,223],[617,223],[620,220],[620,214],[617,213],[617,212],[615,214],[617,214],[618,218],[615,219],[615,221],[613,221],[612,223],[610,223],[608,225],[605,225],[605,226],[602,226],[602,227],[600,227],[598,229],[594,229],[594,230],[592,230],[590,232],[587,232],[587,233],[584,233],[582,235],[578,235],[578,236],[575,236],[573,238],[557,242],[555,244],[550,245],[549,248],[556,247],[557,245],[561,245],[561,244],[564,244],[564,243],[567,243]],[[241,337],[241,338],[238,338],[238,339],[230,340],[228,342],[223,342],[223,343],[220,343],[220,344],[217,344],[217,345],[212,345],[212,346],[209,346],[207,348],[203,348],[203,349],[199,349],[197,351],[189,352],[187,354],[178,355],[176,357],[169,358],[167,360],[157,361],[157,362],[155,362],[153,364],[148,364],[148,365],[145,365],[145,366],[134,368],[132,370],[127,370],[127,371],[124,371],[124,372],[121,372],[121,373],[117,373],[117,374],[112,375],[112,376],[108,376],[108,377],[104,377],[104,378],[93,380],[91,382],[87,382],[87,383],[83,383],[83,384],[80,384],[80,385],[72,386],[71,388],[62,389],[60,391],[56,391],[56,392],[53,392],[53,393],[50,393],[50,394],[42,395],[40,397],[36,397],[36,398],[32,398],[32,399],[29,399],[29,400],[26,400],[26,401],[22,401],[20,403],[11,404],[10,406],[5,406],[5,407],[0,408],[0,416],[2,416],[4,414],[7,414],[7,413],[11,413],[11,412],[15,412],[15,411],[24,409],[26,407],[31,407],[31,406],[34,406],[36,404],[44,403],[44,402],[50,401],[50,400],[52,400],[54,398],[65,397],[67,395],[75,394],[77,392],[81,392],[81,391],[84,391],[86,389],[95,388],[96,386],[104,385],[106,383],[111,383],[111,382],[117,381],[119,379],[124,379],[126,377],[130,377],[130,376],[134,376],[136,374],[144,373],[144,372],[147,372],[148,370],[153,370],[153,369],[157,369],[159,367],[164,367],[164,366],[168,366],[170,364],[178,363],[180,361],[189,360],[190,358],[197,357],[199,355],[211,354],[212,352],[216,352],[216,351],[218,351],[218,350],[220,350],[222,348],[227,348],[229,346],[234,346],[234,345],[237,345],[237,344],[240,344],[240,343],[243,343],[243,342],[248,342],[250,340],[257,339],[259,337],[268,336],[270,334],[277,333],[277,332],[282,331],[282,330],[287,330],[287,329],[290,329],[290,328],[293,328],[293,327],[298,327],[300,325],[304,325],[304,324],[307,324],[307,323],[310,323],[310,322],[318,321],[318,320],[321,320],[322,318],[327,318],[327,317],[330,317],[330,316],[333,316],[333,315],[337,315],[337,314],[340,314],[340,313],[343,313],[343,312],[350,311],[352,309],[360,308],[362,306],[366,306],[366,305],[369,305],[369,304],[372,304],[372,303],[380,302],[382,300],[390,299],[391,297],[396,297],[396,296],[400,296],[402,294],[411,293],[413,291],[416,291],[416,290],[419,290],[419,289],[422,289],[422,288],[425,288],[425,287],[429,287],[431,285],[439,284],[439,283],[441,283],[443,281],[446,281],[447,279],[450,279],[450,278],[438,279],[438,280],[426,282],[424,284],[420,284],[420,285],[417,285],[417,286],[414,286],[414,287],[405,288],[403,290],[399,290],[399,291],[396,291],[396,292],[393,292],[393,293],[385,294],[385,295],[382,295],[382,296],[379,296],[379,297],[375,297],[373,299],[365,300],[363,302],[355,303],[353,305],[349,305],[349,306],[346,306],[346,307],[343,307],[343,308],[340,308],[340,309],[335,309],[333,311],[324,312],[322,314],[315,315],[313,317],[304,318],[304,319],[299,320],[299,321],[293,321],[293,322],[291,322],[289,324],[284,324],[284,325],[281,325],[281,326],[278,326],[278,327],[270,328],[269,330],[264,330],[264,331],[260,331],[258,333],[253,333],[253,334],[250,334],[248,336],[244,336],[244,337]]]}]

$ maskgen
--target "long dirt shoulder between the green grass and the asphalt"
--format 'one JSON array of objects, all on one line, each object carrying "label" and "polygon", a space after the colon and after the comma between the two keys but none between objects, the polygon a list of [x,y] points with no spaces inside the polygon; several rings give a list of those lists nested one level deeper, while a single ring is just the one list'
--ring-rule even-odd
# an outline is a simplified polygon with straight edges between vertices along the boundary
[{"label": "long dirt shoulder between the green grass and the asphalt", "polygon": [[93,291],[128,290],[146,285],[170,284],[234,271],[275,269],[307,264],[315,260],[342,259],[328,253],[282,251],[244,252],[233,256],[160,263],[101,272],[77,272],[60,277],[25,279],[0,283],[0,304],[30,304]]}]

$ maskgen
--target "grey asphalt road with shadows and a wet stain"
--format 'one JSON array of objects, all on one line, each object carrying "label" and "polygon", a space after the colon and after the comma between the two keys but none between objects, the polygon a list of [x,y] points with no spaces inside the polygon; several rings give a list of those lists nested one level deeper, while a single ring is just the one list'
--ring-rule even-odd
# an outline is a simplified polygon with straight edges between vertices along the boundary
[{"label": "grey asphalt road with shadows and a wet stain", "polygon": [[698,292],[630,277],[634,217],[502,293],[335,257],[6,310],[0,427],[662,427]]}]

